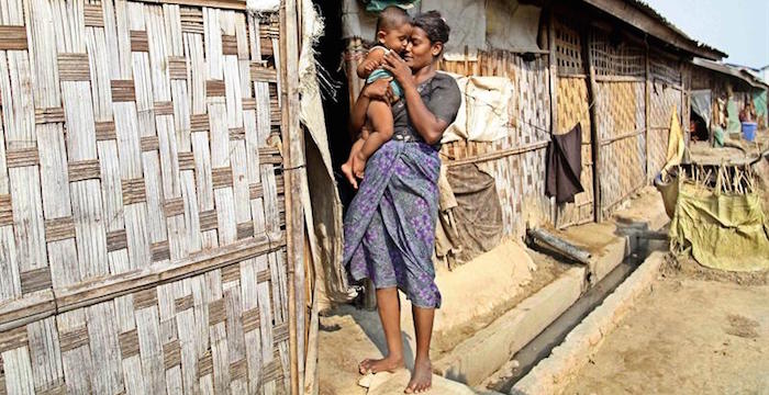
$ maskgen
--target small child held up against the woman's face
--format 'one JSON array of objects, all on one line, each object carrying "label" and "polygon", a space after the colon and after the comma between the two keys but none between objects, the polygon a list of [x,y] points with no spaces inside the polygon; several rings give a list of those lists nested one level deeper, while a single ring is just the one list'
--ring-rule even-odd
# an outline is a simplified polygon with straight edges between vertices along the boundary
[{"label": "small child held up against the woman's face", "polygon": [[[358,66],[358,77],[371,83],[379,79],[390,78],[392,75],[379,68],[384,55],[390,50],[402,53],[409,44],[411,35],[411,19],[402,9],[391,5],[386,8],[377,20],[377,43],[368,50],[366,59]],[[401,88],[395,82],[390,82],[393,101],[401,97]],[[376,100],[371,101],[366,110],[366,126],[360,131],[360,137],[353,144],[349,159],[342,166],[342,172],[354,188],[358,188],[356,177],[363,178],[366,161],[374,153],[392,137],[392,110],[390,103]]]}]

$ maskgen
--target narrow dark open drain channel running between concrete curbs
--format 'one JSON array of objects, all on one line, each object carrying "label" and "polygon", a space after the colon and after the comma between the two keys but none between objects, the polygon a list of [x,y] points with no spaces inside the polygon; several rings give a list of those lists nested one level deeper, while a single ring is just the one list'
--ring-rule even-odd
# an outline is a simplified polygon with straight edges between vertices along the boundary
[{"label": "narrow dark open drain channel running between concrete curbs", "polygon": [[542,331],[534,340],[515,353],[510,363],[487,382],[487,387],[509,394],[515,383],[524,377],[553,349],[560,345],[566,336],[576,328],[595,307],[616,290],[651,252],[656,242],[640,239],[638,248],[627,256],[606,276],[582,294],[564,314]]}]

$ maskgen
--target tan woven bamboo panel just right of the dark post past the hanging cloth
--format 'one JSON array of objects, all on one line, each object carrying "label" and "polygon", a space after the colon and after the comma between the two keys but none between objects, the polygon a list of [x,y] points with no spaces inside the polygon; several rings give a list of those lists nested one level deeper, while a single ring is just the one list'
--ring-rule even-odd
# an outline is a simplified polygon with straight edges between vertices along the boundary
[{"label": "tan woven bamboo panel just right of the dark post past the hanging cloth", "polygon": [[645,92],[644,82],[598,83],[595,113],[604,215],[646,181]]}]

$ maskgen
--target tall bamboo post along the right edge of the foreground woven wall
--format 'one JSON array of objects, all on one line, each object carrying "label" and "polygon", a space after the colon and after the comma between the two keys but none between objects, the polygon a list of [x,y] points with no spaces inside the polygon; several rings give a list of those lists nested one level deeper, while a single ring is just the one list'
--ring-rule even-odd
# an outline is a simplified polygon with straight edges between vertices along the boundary
[{"label": "tall bamboo post along the right edge of the foreground woven wall", "polygon": [[[304,212],[301,201],[305,169],[304,133],[299,125],[298,1],[280,7],[281,138],[289,297],[289,356],[291,395],[299,395],[304,370]],[[301,335],[299,331],[301,330]]]}]

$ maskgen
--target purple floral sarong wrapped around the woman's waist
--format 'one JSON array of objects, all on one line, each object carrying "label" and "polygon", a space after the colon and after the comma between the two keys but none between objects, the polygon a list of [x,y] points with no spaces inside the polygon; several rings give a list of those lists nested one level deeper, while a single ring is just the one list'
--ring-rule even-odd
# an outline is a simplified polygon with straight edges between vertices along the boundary
[{"label": "purple floral sarong wrapped around the woman's waist", "polygon": [[414,306],[441,307],[432,256],[441,159],[424,143],[390,140],[368,160],[345,215],[344,264],[354,281],[397,286]]}]

